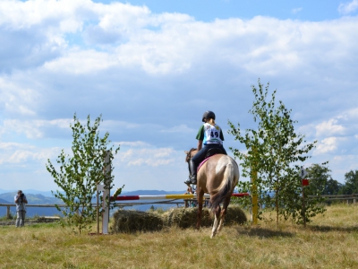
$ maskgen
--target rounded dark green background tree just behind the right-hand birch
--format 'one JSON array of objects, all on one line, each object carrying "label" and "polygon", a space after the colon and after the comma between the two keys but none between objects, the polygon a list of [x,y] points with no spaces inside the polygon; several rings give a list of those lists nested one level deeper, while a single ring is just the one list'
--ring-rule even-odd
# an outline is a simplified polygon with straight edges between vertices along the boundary
[{"label": "rounded dark green background tree just behind the right-hand birch", "polygon": [[342,191],[342,184],[331,177],[326,165],[327,162],[312,164],[307,169],[310,178],[310,186],[305,191],[307,195],[337,195]]}]

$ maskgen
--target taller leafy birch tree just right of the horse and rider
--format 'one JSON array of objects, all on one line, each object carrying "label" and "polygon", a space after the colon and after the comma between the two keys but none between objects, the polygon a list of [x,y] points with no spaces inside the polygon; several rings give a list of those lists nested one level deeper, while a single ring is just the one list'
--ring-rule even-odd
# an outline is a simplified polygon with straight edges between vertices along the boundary
[{"label": "taller leafy birch tree just right of the horse and rider", "polygon": [[[234,156],[242,161],[244,178],[251,178],[252,172],[257,172],[256,186],[259,203],[265,209],[275,208],[276,221],[279,216],[285,220],[292,217],[298,223],[303,218],[309,218],[323,209],[316,206],[317,201],[307,204],[305,215],[302,215],[303,199],[301,197],[301,178],[299,171],[303,162],[311,156],[306,155],[315,147],[316,141],[307,143],[304,135],[294,132],[294,123],[291,119],[291,110],[288,110],[282,101],[275,100],[276,91],[273,91],[271,100],[268,100],[268,85],[263,87],[259,80],[259,87],[251,86],[255,100],[249,113],[257,129],[247,129],[242,134],[240,124],[237,127],[230,121],[229,134],[243,143],[247,154],[230,148]],[[239,188],[250,187],[251,183],[239,183]]]}]

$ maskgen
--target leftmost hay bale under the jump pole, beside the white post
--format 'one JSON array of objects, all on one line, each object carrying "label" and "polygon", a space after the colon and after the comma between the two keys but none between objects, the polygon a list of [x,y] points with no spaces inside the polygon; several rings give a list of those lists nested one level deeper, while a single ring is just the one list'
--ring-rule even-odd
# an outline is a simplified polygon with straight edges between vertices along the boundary
[{"label": "leftmost hay bale under the jump pole, beside the white post", "polygon": [[163,229],[163,219],[154,212],[118,210],[114,213],[112,232],[131,233],[136,231],[156,231]]}]

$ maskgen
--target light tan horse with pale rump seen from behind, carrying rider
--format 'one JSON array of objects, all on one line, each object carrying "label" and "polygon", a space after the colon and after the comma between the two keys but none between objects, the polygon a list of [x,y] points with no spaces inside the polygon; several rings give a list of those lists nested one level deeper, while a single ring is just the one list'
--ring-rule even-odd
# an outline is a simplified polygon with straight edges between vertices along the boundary
[{"label": "light tan horse with pale rump seen from behind, carrying rider", "polygon": [[[189,152],[185,152],[185,161],[190,161],[197,152],[198,150],[194,148],[192,148]],[[236,161],[225,154],[215,154],[209,157],[209,160],[205,161],[200,166],[197,174],[196,188],[198,201],[196,229],[200,230],[204,194],[209,194],[209,207],[211,209],[211,213],[215,215],[211,231],[211,239],[214,238],[217,232],[223,227],[227,206],[230,203],[234,187],[239,182],[239,177],[239,167]],[[220,207],[221,203],[223,203],[222,209]]]}]

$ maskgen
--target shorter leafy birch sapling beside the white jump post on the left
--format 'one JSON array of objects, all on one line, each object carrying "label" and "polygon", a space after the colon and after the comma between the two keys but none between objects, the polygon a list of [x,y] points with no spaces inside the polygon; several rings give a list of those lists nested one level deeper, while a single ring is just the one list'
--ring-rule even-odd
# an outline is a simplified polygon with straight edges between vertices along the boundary
[{"label": "shorter leafy birch sapling beside the white jump post on the left", "polygon": [[[111,143],[108,140],[109,134],[99,136],[99,124],[101,116],[97,117],[93,126],[90,125],[90,116],[87,117],[87,125],[81,125],[80,120],[73,117],[72,128],[72,156],[62,150],[58,156],[57,163],[59,168],[47,160],[47,171],[55,180],[60,189],[53,194],[61,199],[66,207],[61,209],[56,205],[57,210],[64,214],[64,225],[74,225],[79,233],[82,230],[90,230],[91,223],[95,220],[96,209],[92,206],[98,184],[105,184],[106,188],[113,187],[114,176],[113,167],[105,172],[105,168],[110,165],[115,154],[119,151],[119,146],[108,147]],[[105,161],[107,152],[109,161]],[[109,202],[108,202],[109,203]],[[72,229],[74,231],[74,229]]]}]

